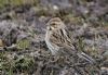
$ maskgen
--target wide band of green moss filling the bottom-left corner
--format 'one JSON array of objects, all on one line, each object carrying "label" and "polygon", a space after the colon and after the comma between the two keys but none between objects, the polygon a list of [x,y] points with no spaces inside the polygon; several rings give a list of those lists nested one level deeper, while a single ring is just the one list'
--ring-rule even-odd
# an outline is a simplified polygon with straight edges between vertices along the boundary
[{"label": "wide band of green moss filling the bottom-left corner", "polygon": [[5,75],[14,75],[14,73],[22,73],[22,72],[27,72],[30,73],[32,72],[35,66],[35,60],[31,57],[18,57],[17,59],[12,59],[6,61],[2,60],[0,62],[0,71],[4,72]]}]

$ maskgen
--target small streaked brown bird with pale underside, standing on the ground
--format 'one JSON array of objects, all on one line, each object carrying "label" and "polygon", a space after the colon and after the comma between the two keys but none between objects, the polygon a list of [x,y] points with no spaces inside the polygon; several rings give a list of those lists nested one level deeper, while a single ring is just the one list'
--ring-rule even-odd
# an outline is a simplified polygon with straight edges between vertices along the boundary
[{"label": "small streaked brown bird with pale underside, standing on the ground", "polygon": [[71,37],[65,23],[59,17],[53,17],[46,23],[44,40],[52,55],[67,52],[67,54],[76,54],[92,64],[95,62],[92,57],[83,51],[76,50],[73,46],[75,39]]}]

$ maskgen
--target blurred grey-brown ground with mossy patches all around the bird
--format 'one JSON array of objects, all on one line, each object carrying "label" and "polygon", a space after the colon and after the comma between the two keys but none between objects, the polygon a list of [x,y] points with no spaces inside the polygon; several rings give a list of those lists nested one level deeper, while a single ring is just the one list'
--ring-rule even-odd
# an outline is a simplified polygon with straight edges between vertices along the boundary
[{"label": "blurred grey-brown ground with mossy patches all around the bird", "polygon": [[[63,20],[95,65],[54,61],[44,42],[52,17]],[[0,75],[108,75],[108,0],[0,0]]]}]

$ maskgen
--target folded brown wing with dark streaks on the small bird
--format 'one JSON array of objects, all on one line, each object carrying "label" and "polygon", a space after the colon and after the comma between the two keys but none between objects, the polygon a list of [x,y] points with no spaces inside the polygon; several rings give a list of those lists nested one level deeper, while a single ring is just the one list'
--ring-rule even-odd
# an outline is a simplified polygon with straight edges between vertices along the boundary
[{"label": "folded brown wing with dark streaks on the small bird", "polygon": [[51,42],[57,45],[58,47],[75,49],[69,34],[65,29],[59,29],[59,30],[53,32],[51,37],[52,37],[50,39]]}]

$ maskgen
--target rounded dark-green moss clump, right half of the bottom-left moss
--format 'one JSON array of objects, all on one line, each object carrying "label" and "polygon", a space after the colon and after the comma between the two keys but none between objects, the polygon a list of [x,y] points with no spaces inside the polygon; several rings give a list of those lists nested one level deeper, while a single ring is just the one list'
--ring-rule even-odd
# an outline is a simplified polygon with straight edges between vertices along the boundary
[{"label": "rounded dark-green moss clump, right half of the bottom-left moss", "polygon": [[24,57],[24,58],[19,58],[15,61],[15,66],[13,67],[13,70],[15,71],[31,71],[31,68],[33,68],[35,65],[35,60],[30,57]]}]

